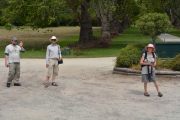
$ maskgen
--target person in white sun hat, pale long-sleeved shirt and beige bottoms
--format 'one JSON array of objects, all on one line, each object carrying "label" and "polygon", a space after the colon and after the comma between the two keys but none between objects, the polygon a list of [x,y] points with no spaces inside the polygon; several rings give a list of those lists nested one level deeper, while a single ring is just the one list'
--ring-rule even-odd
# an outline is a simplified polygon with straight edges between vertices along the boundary
[{"label": "person in white sun hat, pale long-sleeved shirt and beige bottoms", "polygon": [[57,44],[56,36],[50,38],[51,44],[47,46],[46,50],[46,68],[48,68],[46,82],[44,83],[45,87],[49,87],[50,78],[52,77],[52,86],[58,86],[55,82],[56,77],[58,76],[59,67],[58,60],[62,59],[60,46]]}]

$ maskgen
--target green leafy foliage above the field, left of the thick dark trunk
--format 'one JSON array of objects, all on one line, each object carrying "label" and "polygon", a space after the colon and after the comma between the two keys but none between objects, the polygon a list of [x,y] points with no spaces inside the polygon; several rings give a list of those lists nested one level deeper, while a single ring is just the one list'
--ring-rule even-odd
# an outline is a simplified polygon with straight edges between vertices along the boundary
[{"label": "green leafy foliage above the field, left of the thick dark trunk", "polygon": [[[5,4],[5,3],[4,3]],[[76,20],[65,0],[9,0],[1,12],[1,23],[16,26],[48,27],[73,25]]]}]

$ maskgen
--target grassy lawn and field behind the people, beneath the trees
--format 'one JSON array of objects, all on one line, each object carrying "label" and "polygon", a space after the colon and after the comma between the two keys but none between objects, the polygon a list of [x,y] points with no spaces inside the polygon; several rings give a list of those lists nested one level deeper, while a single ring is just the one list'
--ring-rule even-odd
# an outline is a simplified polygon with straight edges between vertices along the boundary
[{"label": "grassy lawn and field behind the people, beneath the trees", "polygon": [[[13,29],[11,31],[1,28],[0,33],[2,33],[2,36],[0,36],[0,57],[4,56],[3,51],[5,45],[8,44],[11,36],[15,35],[24,41],[24,46],[28,49],[22,54],[23,58],[45,58],[45,49],[49,44],[48,39],[50,36],[57,36],[60,40],[59,44],[65,47],[78,41],[79,27],[56,27],[39,29],[38,31],[33,31],[29,27],[24,27],[20,30]],[[94,28],[94,35],[100,35],[99,28]],[[117,56],[120,49],[127,44],[147,44],[149,42],[151,42],[149,36],[141,34],[135,28],[129,28],[124,33],[114,37],[109,48],[71,50],[71,54],[65,55],[64,57],[113,57]]]}]

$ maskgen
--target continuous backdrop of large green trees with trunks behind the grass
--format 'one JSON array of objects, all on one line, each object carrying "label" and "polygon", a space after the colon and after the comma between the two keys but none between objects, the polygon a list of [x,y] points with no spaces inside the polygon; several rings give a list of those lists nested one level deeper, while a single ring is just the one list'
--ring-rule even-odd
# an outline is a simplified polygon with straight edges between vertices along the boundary
[{"label": "continuous backdrop of large green trees with trunks behind the grass", "polygon": [[[33,28],[78,25],[81,28],[79,43],[83,44],[93,42],[92,26],[99,25],[99,43],[108,46],[113,36],[148,13],[166,14],[175,27],[180,27],[179,4],[179,0],[0,0],[0,25],[7,28],[11,25]],[[152,19],[148,20],[150,25]],[[144,29],[144,32],[147,31]]]}]

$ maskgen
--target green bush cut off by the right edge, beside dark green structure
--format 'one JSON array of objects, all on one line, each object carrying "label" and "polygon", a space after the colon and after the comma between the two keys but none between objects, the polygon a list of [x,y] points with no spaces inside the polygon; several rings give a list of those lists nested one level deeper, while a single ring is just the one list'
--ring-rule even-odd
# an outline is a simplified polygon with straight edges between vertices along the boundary
[{"label": "green bush cut off by the right edge, beside dark green structure", "polygon": [[180,54],[176,55],[176,57],[173,59],[172,70],[180,71]]}]

